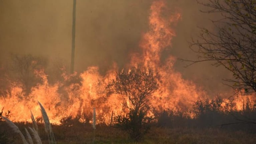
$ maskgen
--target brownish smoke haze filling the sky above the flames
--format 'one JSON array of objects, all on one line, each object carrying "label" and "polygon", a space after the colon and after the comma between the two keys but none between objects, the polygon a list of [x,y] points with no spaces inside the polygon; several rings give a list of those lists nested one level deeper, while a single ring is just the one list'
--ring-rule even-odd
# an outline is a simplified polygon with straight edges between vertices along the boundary
[{"label": "brownish smoke haze filling the sky above the flames", "polygon": [[[204,0],[206,1],[206,0]],[[99,66],[104,73],[113,62],[123,67],[130,53],[140,52],[141,36],[148,30],[152,0],[77,0],[75,71]],[[168,55],[195,59],[187,41],[199,34],[197,26],[214,29],[208,14],[199,12],[196,0],[173,0],[168,7],[179,10],[182,19],[175,27],[177,36]],[[73,0],[0,0],[0,56],[6,61],[9,53],[32,54],[70,64]],[[168,14],[168,11],[166,11]],[[217,16],[212,16],[217,18]],[[175,69],[183,77],[203,87],[211,95],[227,92],[221,82],[230,77],[223,68],[199,63],[184,68],[177,61]]]}]

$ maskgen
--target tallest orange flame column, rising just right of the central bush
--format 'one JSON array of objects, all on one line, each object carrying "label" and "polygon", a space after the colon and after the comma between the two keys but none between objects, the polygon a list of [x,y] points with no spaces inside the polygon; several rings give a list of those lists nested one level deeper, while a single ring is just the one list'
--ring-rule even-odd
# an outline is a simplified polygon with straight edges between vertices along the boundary
[{"label": "tallest orange flame column, rising just right of the central bush", "polygon": [[161,63],[161,53],[166,47],[171,46],[171,41],[176,36],[172,26],[181,19],[181,14],[175,11],[166,19],[162,16],[166,8],[164,1],[153,2],[149,16],[150,30],[142,36],[140,43],[143,55],[133,57],[132,64],[143,62],[160,73],[160,89],[155,93],[155,101],[152,101],[155,106],[161,109],[170,107],[187,109],[191,108],[192,101],[203,96],[204,92],[192,82],[184,80],[179,72],[174,71],[173,56],[169,56],[164,63]]}]

